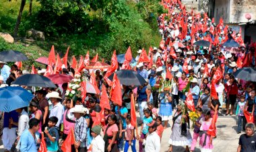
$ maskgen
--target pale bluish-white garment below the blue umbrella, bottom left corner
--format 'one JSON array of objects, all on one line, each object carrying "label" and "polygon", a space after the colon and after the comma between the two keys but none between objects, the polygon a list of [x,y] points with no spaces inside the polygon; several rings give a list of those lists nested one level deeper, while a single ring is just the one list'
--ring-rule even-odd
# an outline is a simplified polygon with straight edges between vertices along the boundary
[{"label": "pale bluish-white garment below the blue umbrella, bottom left corner", "polygon": [[16,129],[17,129],[16,127],[3,128],[3,136],[2,136],[3,147],[8,151],[11,150],[11,146],[13,145],[13,143],[15,142],[15,139],[17,138]]}]

